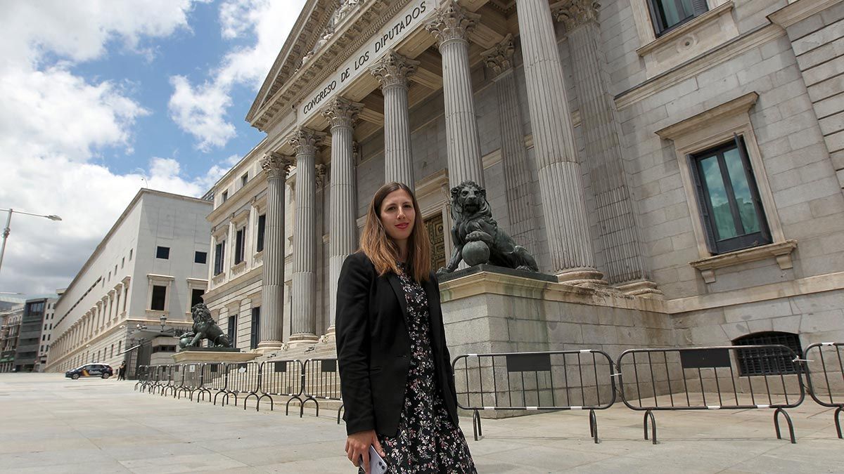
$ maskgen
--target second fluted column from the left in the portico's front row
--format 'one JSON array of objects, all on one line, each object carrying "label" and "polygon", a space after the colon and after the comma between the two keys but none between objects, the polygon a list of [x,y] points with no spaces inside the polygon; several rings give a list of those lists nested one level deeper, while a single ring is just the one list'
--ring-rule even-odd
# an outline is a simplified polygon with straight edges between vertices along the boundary
[{"label": "second fluted column from the left in the portico's front row", "polygon": [[[317,340],[317,200],[315,159],[324,133],[302,128],[290,138],[296,150],[296,214],[290,342]],[[322,241],[322,240],[321,240]]]}]

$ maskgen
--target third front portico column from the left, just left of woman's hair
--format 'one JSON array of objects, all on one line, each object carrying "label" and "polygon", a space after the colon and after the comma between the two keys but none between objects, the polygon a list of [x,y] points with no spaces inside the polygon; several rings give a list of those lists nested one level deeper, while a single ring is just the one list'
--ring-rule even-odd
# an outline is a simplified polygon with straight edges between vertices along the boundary
[{"label": "third front portico column from the left, just left of woman's hair", "polygon": [[[334,333],[334,317],[337,312],[337,281],[343,262],[358,247],[358,226],[355,221],[357,206],[354,186],[354,150],[352,127],[357,120],[362,104],[343,98],[328,103],[322,115],[331,125],[331,204],[330,240],[328,240],[328,302],[329,323],[327,334]],[[405,111],[405,115],[406,111]],[[409,149],[408,149],[409,151]],[[411,172],[411,175],[413,173]]]}]

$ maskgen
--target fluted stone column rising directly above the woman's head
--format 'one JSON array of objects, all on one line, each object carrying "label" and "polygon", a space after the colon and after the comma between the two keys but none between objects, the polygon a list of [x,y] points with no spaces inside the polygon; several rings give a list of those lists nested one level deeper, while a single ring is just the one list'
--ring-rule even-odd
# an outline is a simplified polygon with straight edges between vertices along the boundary
[{"label": "fluted stone column rising directly above the woman's head", "polygon": [[384,94],[384,182],[398,181],[414,189],[414,158],[410,151],[408,77],[418,61],[389,51],[370,67]]}]

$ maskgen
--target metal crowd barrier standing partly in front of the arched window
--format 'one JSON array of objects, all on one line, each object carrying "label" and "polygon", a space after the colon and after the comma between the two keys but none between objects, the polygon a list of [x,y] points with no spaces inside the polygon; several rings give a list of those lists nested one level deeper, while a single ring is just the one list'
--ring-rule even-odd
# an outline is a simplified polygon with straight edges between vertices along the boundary
[{"label": "metal crowd barrier standing partly in front of the arched window", "polygon": [[[738,374],[730,353],[744,361]],[[789,347],[771,344],[630,349],[619,355],[617,365],[622,400],[631,410],[645,412],[645,439],[650,420],[653,444],[657,444],[653,412],[753,408],[774,409],[777,439],[782,439],[782,413],[791,442],[797,443],[785,409],[797,407],[805,397],[800,360]]]}]

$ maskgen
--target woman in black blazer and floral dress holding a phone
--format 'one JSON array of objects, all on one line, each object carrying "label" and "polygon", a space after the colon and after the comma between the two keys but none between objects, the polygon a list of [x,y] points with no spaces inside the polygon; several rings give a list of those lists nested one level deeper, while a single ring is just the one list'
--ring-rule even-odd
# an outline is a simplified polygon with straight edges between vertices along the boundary
[{"label": "woman in black blazer and floral dress holding a phone", "polygon": [[475,472],[457,428],[428,233],[408,186],[376,191],[360,249],[344,262],[337,289],[349,461],[369,472],[373,445],[390,472]]}]

